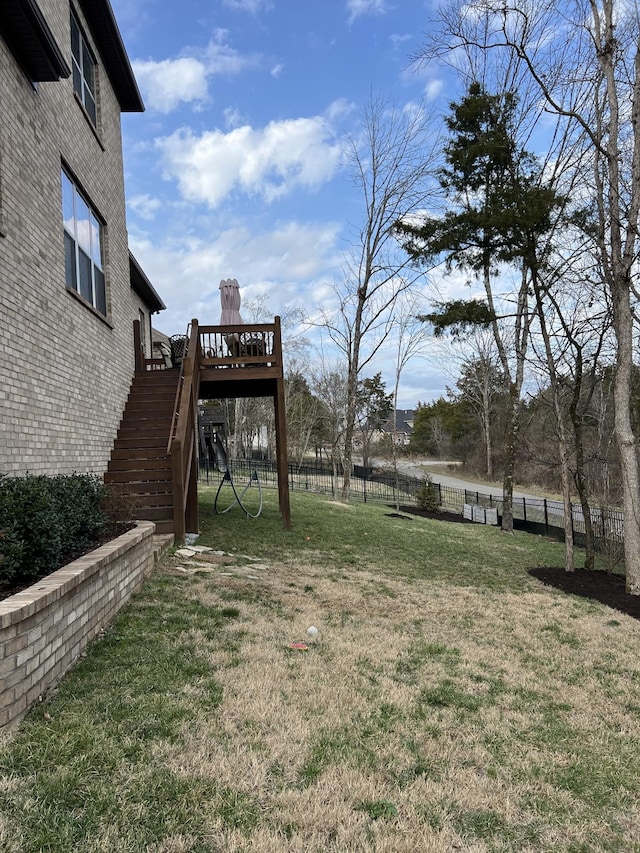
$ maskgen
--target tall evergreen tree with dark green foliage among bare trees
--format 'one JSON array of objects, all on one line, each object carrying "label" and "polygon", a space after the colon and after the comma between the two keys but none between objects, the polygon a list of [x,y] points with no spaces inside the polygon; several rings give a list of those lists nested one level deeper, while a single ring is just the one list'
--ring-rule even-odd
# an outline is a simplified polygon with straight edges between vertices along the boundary
[{"label": "tall evergreen tree with dark green foliage among bare trees", "polygon": [[[559,200],[548,190],[538,164],[516,138],[518,100],[513,92],[491,95],[473,82],[460,103],[451,104],[446,119],[450,141],[440,184],[450,202],[442,217],[428,217],[419,226],[399,223],[404,246],[417,262],[444,256],[446,268],[469,270],[482,279],[486,301],[457,300],[442,304],[425,320],[436,333],[463,332],[478,325],[493,332],[500,368],[509,395],[503,471],[502,529],[513,529],[513,484],[519,430],[520,392],[532,312],[531,275],[540,259],[536,245],[550,228]],[[512,297],[510,327],[496,310],[494,278],[505,264],[521,269]],[[513,347],[513,357],[510,348]]]}]

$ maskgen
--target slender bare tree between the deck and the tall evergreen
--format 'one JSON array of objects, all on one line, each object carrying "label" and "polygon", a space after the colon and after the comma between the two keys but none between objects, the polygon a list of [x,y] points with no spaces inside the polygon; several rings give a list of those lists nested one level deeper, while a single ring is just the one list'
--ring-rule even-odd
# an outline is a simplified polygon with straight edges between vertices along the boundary
[{"label": "slender bare tree between the deck and the tall evergreen", "polygon": [[348,144],[363,218],[335,288],[337,309],[321,319],[347,369],[343,500],[349,499],[358,378],[389,334],[398,296],[424,275],[399,250],[396,223],[429,197],[437,154],[433,127],[424,109],[397,109],[373,96],[362,112],[360,135]]}]

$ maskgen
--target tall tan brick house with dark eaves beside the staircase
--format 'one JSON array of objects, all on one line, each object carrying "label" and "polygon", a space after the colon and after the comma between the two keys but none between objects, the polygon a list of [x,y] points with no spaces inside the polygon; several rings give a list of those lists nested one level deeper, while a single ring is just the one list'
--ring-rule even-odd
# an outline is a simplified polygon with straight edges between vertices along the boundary
[{"label": "tall tan brick house with dark eaves beside the staircase", "polygon": [[143,110],[108,0],[1,0],[0,472],[105,471],[134,320],[152,354],[120,123]]}]

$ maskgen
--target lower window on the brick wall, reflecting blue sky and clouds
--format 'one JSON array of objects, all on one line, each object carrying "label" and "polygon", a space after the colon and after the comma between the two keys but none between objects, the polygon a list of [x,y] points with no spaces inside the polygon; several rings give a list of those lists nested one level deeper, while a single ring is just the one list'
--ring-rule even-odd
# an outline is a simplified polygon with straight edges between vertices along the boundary
[{"label": "lower window on the brick wall, reflecting blue sky and clouds", "polygon": [[67,287],[107,316],[104,226],[69,175],[62,171],[62,221]]}]

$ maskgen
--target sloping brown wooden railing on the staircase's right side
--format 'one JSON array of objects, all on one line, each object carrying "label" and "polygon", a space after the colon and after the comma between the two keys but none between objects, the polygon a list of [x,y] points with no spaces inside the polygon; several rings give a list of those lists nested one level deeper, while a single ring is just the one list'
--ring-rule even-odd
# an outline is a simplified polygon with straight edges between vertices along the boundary
[{"label": "sloping brown wooden railing on the staircase's right side", "polygon": [[[167,453],[171,456],[173,479],[173,522],[176,541],[184,541],[189,522],[197,528],[197,459],[195,428],[201,350],[198,321],[187,329],[187,350],[182,359]],[[196,531],[193,531],[196,532]]]}]

